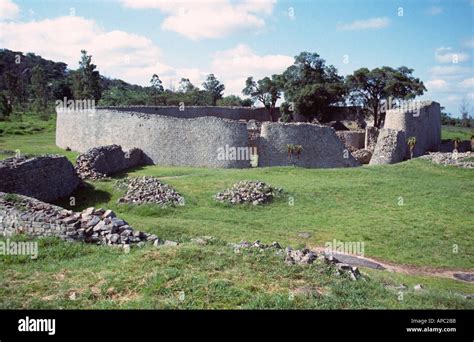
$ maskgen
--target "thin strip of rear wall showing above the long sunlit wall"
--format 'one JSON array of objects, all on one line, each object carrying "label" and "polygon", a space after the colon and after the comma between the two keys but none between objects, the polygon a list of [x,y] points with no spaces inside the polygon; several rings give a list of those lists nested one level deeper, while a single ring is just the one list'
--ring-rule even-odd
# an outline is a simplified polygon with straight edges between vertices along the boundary
[{"label": "thin strip of rear wall showing above the long sunlit wall", "polygon": [[250,107],[218,107],[218,106],[129,106],[129,107],[98,107],[99,110],[118,110],[142,114],[157,114],[182,119],[192,119],[213,116],[231,120],[277,121],[280,117],[279,108],[275,109],[274,117],[269,115],[265,108]]}]

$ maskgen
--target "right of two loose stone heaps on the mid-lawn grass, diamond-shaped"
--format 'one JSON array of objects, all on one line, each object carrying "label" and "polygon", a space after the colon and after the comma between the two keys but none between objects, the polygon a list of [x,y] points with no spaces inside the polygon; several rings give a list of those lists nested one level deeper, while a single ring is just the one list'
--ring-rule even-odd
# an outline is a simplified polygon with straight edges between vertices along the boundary
[{"label": "right of two loose stone heaps on the mid-lawn grass, diamond-shaped", "polygon": [[260,181],[240,181],[223,192],[214,196],[218,202],[230,204],[252,203],[253,205],[270,202],[283,192],[280,188]]}]

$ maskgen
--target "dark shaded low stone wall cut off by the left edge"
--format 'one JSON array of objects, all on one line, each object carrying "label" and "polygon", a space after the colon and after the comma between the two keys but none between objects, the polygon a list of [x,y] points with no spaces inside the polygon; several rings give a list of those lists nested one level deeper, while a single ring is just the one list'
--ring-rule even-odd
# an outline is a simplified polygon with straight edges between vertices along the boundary
[{"label": "dark shaded low stone wall cut off by the left edge", "polygon": [[64,156],[8,158],[0,161],[0,191],[51,202],[79,185],[74,166]]}]

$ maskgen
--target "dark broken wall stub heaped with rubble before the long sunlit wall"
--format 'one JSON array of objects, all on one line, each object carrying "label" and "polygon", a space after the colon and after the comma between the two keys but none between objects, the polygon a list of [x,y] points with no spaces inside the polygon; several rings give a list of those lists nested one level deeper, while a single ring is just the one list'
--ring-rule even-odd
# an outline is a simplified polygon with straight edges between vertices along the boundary
[{"label": "dark broken wall stub heaped with rubble before the long sunlit wall", "polygon": [[107,145],[80,154],[76,159],[76,171],[82,179],[96,180],[146,163],[140,149],[124,152],[119,145]]}]

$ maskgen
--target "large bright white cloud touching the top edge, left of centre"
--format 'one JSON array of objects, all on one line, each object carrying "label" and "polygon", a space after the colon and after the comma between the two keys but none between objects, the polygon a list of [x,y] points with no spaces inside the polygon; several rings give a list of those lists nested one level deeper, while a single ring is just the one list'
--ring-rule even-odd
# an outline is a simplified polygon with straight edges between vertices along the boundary
[{"label": "large bright white cloud touching the top edge, left of centre", "polygon": [[236,31],[262,29],[275,0],[176,1],[122,0],[126,8],[157,9],[166,13],[161,28],[192,40],[222,38]]}]

